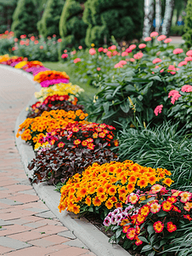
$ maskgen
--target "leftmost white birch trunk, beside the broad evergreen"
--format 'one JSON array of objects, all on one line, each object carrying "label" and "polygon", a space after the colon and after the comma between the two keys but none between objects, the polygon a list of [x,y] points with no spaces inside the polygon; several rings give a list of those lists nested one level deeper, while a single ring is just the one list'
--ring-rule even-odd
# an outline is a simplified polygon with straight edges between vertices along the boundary
[{"label": "leftmost white birch trunk, beside the broad evergreen", "polygon": [[144,0],[144,29],[143,38],[150,37],[153,25],[154,0]]}]

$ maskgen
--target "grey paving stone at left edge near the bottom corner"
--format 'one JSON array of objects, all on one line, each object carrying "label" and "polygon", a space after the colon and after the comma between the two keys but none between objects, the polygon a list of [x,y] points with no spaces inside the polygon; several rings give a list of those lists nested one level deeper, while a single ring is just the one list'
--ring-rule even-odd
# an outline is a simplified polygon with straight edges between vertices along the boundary
[{"label": "grey paving stone at left edge near the bottom corner", "polygon": [[31,247],[30,244],[23,241],[18,241],[7,236],[0,236],[0,245],[3,247],[10,247],[13,249],[21,249],[25,247]]}]

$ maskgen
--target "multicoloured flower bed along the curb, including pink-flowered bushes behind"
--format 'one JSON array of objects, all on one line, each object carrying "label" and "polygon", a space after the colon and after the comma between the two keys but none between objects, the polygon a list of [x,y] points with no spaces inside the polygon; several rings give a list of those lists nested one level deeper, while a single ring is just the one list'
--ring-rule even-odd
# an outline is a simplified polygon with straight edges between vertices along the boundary
[{"label": "multicoloured flower bed along the curb, including pink-flowered bushes behind", "polygon": [[[164,39],[157,38],[160,42]],[[168,44],[166,40],[164,45]],[[80,216],[101,218],[107,229],[114,232],[110,241],[120,242],[133,253],[180,255],[174,249],[174,239],[184,236],[185,226],[192,228],[191,192],[172,189],[175,176],[165,168],[141,166],[132,160],[121,162],[116,149],[121,149],[116,128],[110,125],[114,120],[122,120],[122,125],[127,120],[128,125],[138,128],[144,121],[146,128],[145,122],[156,117],[154,120],[161,123],[164,116],[170,122],[181,119],[190,128],[192,86],[186,73],[190,70],[192,54],[187,52],[187,62],[179,60],[177,65],[172,65],[172,61],[184,55],[183,49],[171,50],[161,43],[156,46],[161,49],[157,55],[155,46],[148,49],[150,39],[145,41],[149,43],[130,45],[121,56],[114,46],[89,50],[92,58],[98,53],[111,60],[113,56],[121,58],[113,73],[116,78],[124,75],[112,83],[100,76],[104,86],[93,99],[97,107],[93,113],[96,117],[100,115],[98,122],[91,122],[89,113],[78,104],[82,89],[71,84],[65,72],[48,70],[39,61],[8,55],[0,56],[0,63],[32,73],[42,86],[36,92],[38,102],[27,109],[27,119],[17,134],[36,153],[28,166],[34,171],[31,182],[46,181],[62,187],[59,211],[67,209]],[[137,51],[137,47],[143,52]],[[171,55],[168,61],[167,53]],[[122,60],[127,55],[133,57],[129,62]],[[73,61],[74,65],[80,65],[79,62],[80,58]],[[181,73],[184,75],[179,79]],[[179,86],[172,86],[177,79]],[[168,110],[172,105],[175,106]],[[123,144],[121,136],[118,137]],[[126,155],[121,150],[122,154]]]}]

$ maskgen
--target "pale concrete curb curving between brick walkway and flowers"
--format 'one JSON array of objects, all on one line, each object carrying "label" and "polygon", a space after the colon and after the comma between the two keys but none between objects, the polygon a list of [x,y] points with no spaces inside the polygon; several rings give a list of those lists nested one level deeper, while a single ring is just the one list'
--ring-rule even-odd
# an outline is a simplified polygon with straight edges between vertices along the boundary
[{"label": "pale concrete curb curving between brick walkway and flowers", "polygon": [[[2,67],[3,65],[1,65]],[[14,67],[4,67],[4,69],[11,69],[16,73],[25,75],[35,85],[37,90],[40,90],[40,84],[33,81],[33,76],[29,73],[25,73],[22,70],[15,69]],[[36,99],[33,96],[31,101],[28,102],[27,107],[35,103]],[[16,119],[14,127],[14,135],[16,134],[19,125],[25,120],[25,108],[22,109],[19,116]],[[20,153],[21,161],[25,168],[27,177],[31,177],[31,172],[28,170],[28,163],[35,158],[35,154],[31,146],[23,143],[21,138],[15,137],[16,146]],[[54,186],[48,186],[46,183],[32,184],[36,190],[37,195],[45,202],[48,208],[54,212],[54,215],[59,218],[59,221],[64,224],[73,234],[79,238],[93,253],[97,256],[131,256],[119,245],[112,245],[109,243],[109,237],[105,236],[100,230],[98,230],[93,224],[88,222],[86,218],[76,218],[76,215],[72,212],[59,213],[58,205],[60,195],[54,190]]]}]

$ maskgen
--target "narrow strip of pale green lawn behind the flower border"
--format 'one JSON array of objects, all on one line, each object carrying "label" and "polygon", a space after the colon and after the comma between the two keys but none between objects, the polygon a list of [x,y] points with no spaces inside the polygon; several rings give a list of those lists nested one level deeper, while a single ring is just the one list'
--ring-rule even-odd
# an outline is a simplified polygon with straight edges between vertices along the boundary
[{"label": "narrow strip of pale green lawn behind the flower border", "polygon": [[93,96],[98,92],[97,88],[94,88],[89,84],[80,83],[76,79],[76,74],[73,73],[71,67],[67,67],[67,64],[61,62],[42,62],[42,64],[44,65],[44,67],[48,67],[51,70],[65,71],[65,73],[67,73],[70,76],[70,81],[72,84],[77,84],[85,90],[84,95],[93,98]]}]

